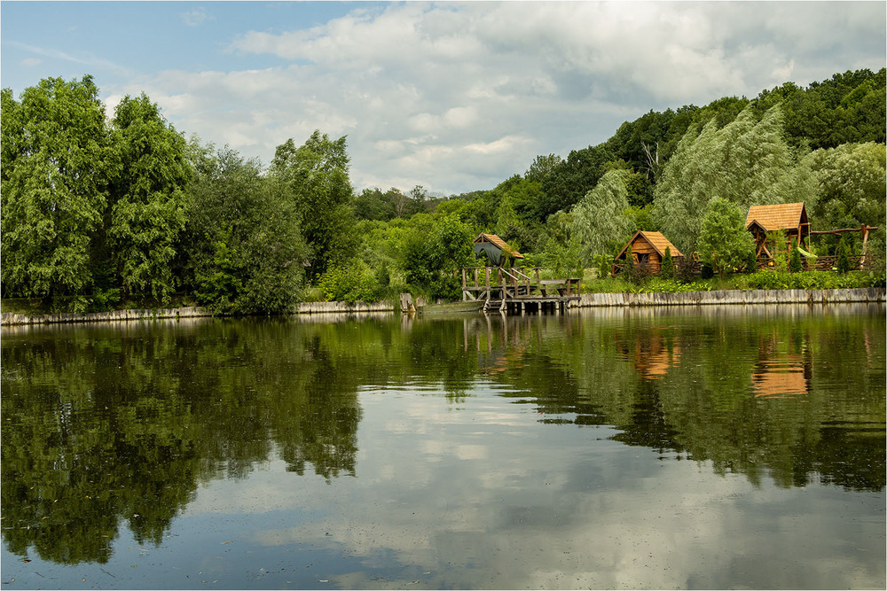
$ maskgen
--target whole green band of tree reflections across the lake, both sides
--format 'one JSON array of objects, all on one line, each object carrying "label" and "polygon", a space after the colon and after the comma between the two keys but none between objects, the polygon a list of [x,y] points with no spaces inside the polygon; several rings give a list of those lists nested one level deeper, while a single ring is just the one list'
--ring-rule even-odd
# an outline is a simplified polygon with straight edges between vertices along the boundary
[{"label": "whole green band of tree reflections across the lake, both sides", "polygon": [[[555,425],[778,486],[884,486],[883,307],[200,320],[4,329],[7,548],[106,563],[161,544],[201,483],[356,476],[361,393],[473,386]],[[562,428],[562,427],[561,427]]]}]

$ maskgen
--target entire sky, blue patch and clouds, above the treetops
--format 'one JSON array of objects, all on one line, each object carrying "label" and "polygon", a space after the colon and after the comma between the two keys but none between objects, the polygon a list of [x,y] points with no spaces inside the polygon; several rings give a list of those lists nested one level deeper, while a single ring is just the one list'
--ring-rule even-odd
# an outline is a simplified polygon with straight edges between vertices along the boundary
[{"label": "entire sky, blue patch and clouds, above the treetops", "polygon": [[884,2],[0,2],[0,84],[90,74],[271,163],[347,136],[357,191],[491,189],[650,110],[887,62]]}]

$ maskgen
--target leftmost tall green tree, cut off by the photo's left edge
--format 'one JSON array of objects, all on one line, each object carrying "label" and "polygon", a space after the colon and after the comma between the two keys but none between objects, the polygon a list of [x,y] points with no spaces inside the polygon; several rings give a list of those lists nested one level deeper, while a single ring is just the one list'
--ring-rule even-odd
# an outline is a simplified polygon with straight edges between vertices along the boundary
[{"label": "leftmost tall green tree, cut off by the photo's left edge", "polygon": [[80,293],[92,283],[114,158],[90,76],[2,92],[0,232],[5,296]]}]

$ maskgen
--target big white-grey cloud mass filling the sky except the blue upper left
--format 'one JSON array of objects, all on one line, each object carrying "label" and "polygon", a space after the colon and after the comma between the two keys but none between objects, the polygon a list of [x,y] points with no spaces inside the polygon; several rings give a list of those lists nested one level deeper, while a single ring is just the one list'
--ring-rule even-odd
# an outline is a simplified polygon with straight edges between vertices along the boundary
[{"label": "big white-grey cloud mass filling the sky except the blue upper left", "polygon": [[598,144],[650,109],[877,69],[883,12],[880,3],[370,5],[316,27],[247,31],[228,48],[287,65],[163,72],[126,91],[144,89],[177,128],[265,162],[315,128],[347,135],[358,190],[471,191],[538,154]]}]

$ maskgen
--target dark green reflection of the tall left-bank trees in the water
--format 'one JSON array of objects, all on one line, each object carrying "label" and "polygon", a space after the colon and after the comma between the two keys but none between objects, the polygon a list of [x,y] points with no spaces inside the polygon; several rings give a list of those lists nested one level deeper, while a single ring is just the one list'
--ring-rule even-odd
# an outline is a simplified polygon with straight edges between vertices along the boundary
[{"label": "dark green reflection of the tall left-bank trees in the water", "polygon": [[355,474],[360,345],[381,339],[244,322],[4,332],[8,548],[106,562],[122,524],[159,544],[201,481],[274,447],[300,474]]}]

